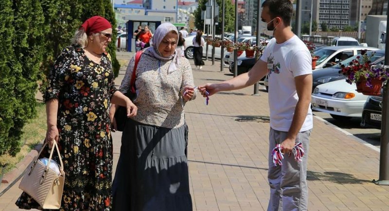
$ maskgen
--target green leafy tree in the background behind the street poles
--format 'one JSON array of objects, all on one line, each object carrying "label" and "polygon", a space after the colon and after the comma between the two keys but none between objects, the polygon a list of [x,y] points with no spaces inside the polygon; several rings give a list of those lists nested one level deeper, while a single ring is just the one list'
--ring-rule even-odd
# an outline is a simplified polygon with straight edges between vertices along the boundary
[{"label": "green leafy tree in the background behind the street poles", "polygon": [[[222,0],[216,0],[219,4],[219,18],[217,20],[218,25],[216,26],[216,34],[221,34],[222,32],[222,15],[223,15],[223,5]],[[201,11],[206,9],[205,4],[207,0],[199,0],[198,7],[194,12],[195,16],[195,26],[197,29],[204,28],[204,20],[201,19]],[[234,31],[234,21],[235,21],[235,6],[231,1],[227,0],[224,3],[225,5],[225,15],[224,15],[224,31],[233,32]]]}]

